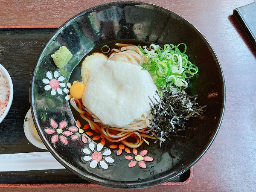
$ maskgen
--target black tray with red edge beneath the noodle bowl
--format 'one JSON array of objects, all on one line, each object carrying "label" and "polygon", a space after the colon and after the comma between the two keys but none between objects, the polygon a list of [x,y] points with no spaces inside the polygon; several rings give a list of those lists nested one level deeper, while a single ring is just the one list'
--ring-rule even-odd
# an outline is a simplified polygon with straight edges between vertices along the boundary
[{"label": "black tray with red edge beneath the noodle bowl", "polygon": [[[45,151],[29,143],[23,131],[23,122],[30,108],[29,86],[36,60],[55,30],[56,28],[0,29],[0,64],[6,67],[14,87],[12,107],[0,123],[0,154]],[[191,180],[192,175],[191,168],[162,185],[186,184]],[[90,186],[87,185],[90,183],[86,180],[67,169],[0,172],[0,186],[49,183]]]}]

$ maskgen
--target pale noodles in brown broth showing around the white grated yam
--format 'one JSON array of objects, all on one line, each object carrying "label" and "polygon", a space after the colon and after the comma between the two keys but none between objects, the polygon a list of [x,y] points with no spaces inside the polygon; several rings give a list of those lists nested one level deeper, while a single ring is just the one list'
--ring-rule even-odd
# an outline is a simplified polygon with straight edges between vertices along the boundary
[{"label": "pale noodles in brown broth showing around the white grated yam", "polygon": [[[143,60],[143,62],[146,62],[145,58],[143,58],[143,53],[137,46],[131,44],[116,45],[120,48],[111,50],[112,53],[108,57],[109,60],[129,62],[137,66],[140,66],[140,62]],[[150,129],[151,126],[148,119],[151,118],[151,111],[143,113],[139,119],[134,119],[128,125],[118,127],[116,125],[104,125],[91,111],[83,108],[79,99],[73,97],[70,99],[70,103],[80,113],[80,116],[89,123],[92,130],[98,130],[110,142],[121,142],[128,147],[137,148],[144,142],[148,143],[146,138],[158,139]]]}]

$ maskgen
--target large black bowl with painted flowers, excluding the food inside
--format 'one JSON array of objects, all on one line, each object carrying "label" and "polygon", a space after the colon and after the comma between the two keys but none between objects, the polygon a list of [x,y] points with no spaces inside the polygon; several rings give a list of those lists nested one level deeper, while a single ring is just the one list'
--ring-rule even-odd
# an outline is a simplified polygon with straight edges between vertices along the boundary
[{"label": "large black bowl with painted flowers, excluding the food inside", "polygon": [[[198,94],[198,103],[207,108],[201,117],[189,120],[190,128],[171,136],[161,148],[159,143],[142,145],[136,154],[131,148],[125,151],[119,144],[110,148],[110,143],[102,138],[93,139],[97,134],[87,134],[92,132],[90,128],[81,130],[85,123],[78,119],[65,98],[69,94],[69,82],[79,77],[76,75],[80,73],[79,65],[89,52],[109,42],[138,41],[160,46],[185,43],[189,60],[199,68],[187,92]],[[73,54],[64,69],[58,69],[50,56],[60,46],[66,46]],[[221,66],[201,32],[170,10],[140,2],[108,3],[68,20],[39,55],[31,83],[32,115],[48,150],[76,175],[113,188],[153,186],[186,172],[212,144],[221,125],[224,103]],[[105,143],[103,148],[99,143]],[[117,155],[119,148],[121,154]],[[99,162],[93,164],[96,154]],[[137,155],[143,160],[136,160]],[[135,166],[128,166],[131,161]]]}]

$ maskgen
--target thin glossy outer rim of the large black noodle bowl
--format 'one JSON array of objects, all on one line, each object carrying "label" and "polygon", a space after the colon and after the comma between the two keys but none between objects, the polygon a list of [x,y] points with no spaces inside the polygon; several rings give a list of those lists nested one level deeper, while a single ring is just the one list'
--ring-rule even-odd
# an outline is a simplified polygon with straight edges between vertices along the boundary
[{"label": "thin glossy outer rim of the large black noodle bowl", "polygon": [[[172,174],[168,174],[168,175],[164,175],[162,177],[156,178],[154,181],[150,181],[150,182],[142,182],[140,184],[138,184],[138,186],[136,186],[134,183],[130,184],[130,183],[126,183],[125,186],[121,186],[120,184],[113,184],[113,182],[106,182],[106,183],[101,183],[99,180],[95,180],[95,178],[90,178],[90,177],[85,177],[84,175],[81,175],[80,173],[77,173],[76,171],[74,171],[73,166],[69,163],[65,163],[63,162],[63,159],[61,156],[59,156],[58,154],[56,154],[56,152],[54,150],[52,150],[52,148],[50,146],[47,145],[46,141],[43,140],[44,144],[47,146],[47,148],[49,149],[49,151],[51,152],[51,154],[64,166],[66,167],[68,170],[70,170],[71,172],[73,172],[76,175],[79,175],[79,177],[89,181],[89,182],[93,182],[102,186],[107,186],[107,187],[111,187],[111,188],[116,188],[116,189],[140,189],[140,188],[145,188],[145,187],[149,187],[149,186],[156,186],[157,184],[163,183],[163,182],[168,182],[168,180],[177,177],[181,174],[183,174],[184,172],[186,172],[188,169],[190,169],[192,166],[195,165],[195,163],[198,162],[198,160],[201,159],[201,157],[208,151],[209,147],[212,145],[213,141],[215,140],[215,137],[218,134],[218,131],[221,127],[221,122],[223,120],[223,116],[224,116],[224,111],[225,111],[225,103],[226,103],[226,86],[225,86],[225,80],[224,80],[224,74],[223,74],[223,70],[221,68],[221,64],[220,61],[217,57],[217,54],[215,53],[214,49],[212,48],[211,44],[209,43],[209,41],[207,40],[207,38],[202,34],[202,32],[197,29],[192,23],[190,23],[187,19],[185,19],[183,16],[177,14],[175,11],[172,11],[171,9],[167,9],[165,7],[162,6],[158,6],[154,3],[146,3],[146,2],[141,2],[141,1],[115,1],[115,2],[110,2],[110,3],[102,3],[100,5],[97,6],[93,6],[90,7],[88,9],[85,9],[84,11],[79,12],[77,15],[74,15],[73,17],[71,17],[70,19],[68,19],[66,22],[64,22],[60,27],[58,27],[58,29],[56,29],[56,31],[53,33],[52,36],[50,36],[49,41],[47,41],[47,43],[44,45],[43,49],[41,50],[40,54],[38,55],[38,59],[35,62],[35,67],[32,73],[32,81],[31,81],[31,85],[30,85],[30,107],[32,109],[32,117],[35,120],[35,126],[38,129],[38,121],[35,118],[35,113],[34,113],[34,103],[32,103],[33,100],[33,95],[32,95],[32,91],[33,91],[33,85],[34,85],[34,75],[35,75],[35,69],[36,69],[36,65],[38,64],[38,61],[40,60],[40,58],[42,57],[42,52],[44,52],[44,50],[46,49],[46,47],[50,44],[50,42],[52,41],[52,39],[54,39],[56,37],[56,34],[58,34],[61,29],[67,25],[69,25],[70,22],[72,22],[72,20],[81,17],[82,15],[85,15],[87,13],[90,13],[96,9],[102,9],[105,6],[113,6],[114,4],[126,4],[126,5],[133,5],[133,4],[143,4],[143,5],[148,5],[148,6],[153,6],[155,8],[160,8],[163,9],[164,11],[167,12],[172,12],[175,15],[179,16],[180,18],[182,18],[189,26],[191,26],[194,30],[196,30],[198,32],[198,34],[201,36],[202,40],[205,42],[205,44],[207,45],[208,49],[210,50],[210,52],[213,55],[213,58],[215,59],[215,62],[218,64],[218,68],[219,68],[219,75],[221,77],[221,84],[222,84],[222,91],[223,91],[223,104],[222,104],[222,108],[220,111],[220,119],[218,121],[218,126],[215,129],[215,133],[212,135],[212,138],[210,140],[210,142],[208,143],[207,147],[201,152],[201,154],[198,155],[198,157],[193,160],[192,162],[190,162],[190,164],[188,166],[185,166],[183,169],[180,170],[180,173],[176,174],[176,175],[172,175]],[[39,134],[39,136],[41,137],[41,135]],[[42,138],[42,137],[41,137]],[[149,184],[149,185],[148,185]]]}]

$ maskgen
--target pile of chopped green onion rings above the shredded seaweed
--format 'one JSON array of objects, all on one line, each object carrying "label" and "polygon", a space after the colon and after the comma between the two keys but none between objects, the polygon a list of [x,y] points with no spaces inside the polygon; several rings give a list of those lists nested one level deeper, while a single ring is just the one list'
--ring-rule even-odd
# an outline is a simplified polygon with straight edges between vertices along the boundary
[{"label": "pile of chopped green onion rings above the shredded seaweed", "polygon": [[[179,49],[181,45],[184,46],[183,52]],[[185,54],[187,47],[184,43],[177,46],[165,44],[163,48],[155,44],[150,44],[144,49],[138,47],[144,54],[143,59],[147,60],[145,63],[141,60],[140,65],[143,70],[150,73],[159,90],[170,85],[177,86],[178,90],[187,87],[186,79],[198,73],[198,67],[188,61],[188,55]]]}]

